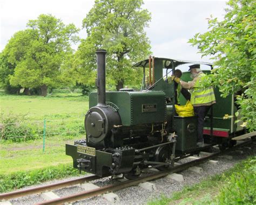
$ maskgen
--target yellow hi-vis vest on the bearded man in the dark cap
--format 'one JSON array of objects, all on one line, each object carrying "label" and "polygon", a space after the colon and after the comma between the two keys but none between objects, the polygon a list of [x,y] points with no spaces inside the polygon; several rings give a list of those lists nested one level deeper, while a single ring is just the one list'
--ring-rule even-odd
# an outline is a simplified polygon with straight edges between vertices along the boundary
[{"label": "yellow hi-vis vest on the bearded man in the dark cap", "polygon": [[[204,75],[204,73],[201,73],[199,76],[203,77]],[[204,89],[192,89],[190,102],[193,106],[211,104],[213,101],[215,101],[215,95],[212,86]]]}]

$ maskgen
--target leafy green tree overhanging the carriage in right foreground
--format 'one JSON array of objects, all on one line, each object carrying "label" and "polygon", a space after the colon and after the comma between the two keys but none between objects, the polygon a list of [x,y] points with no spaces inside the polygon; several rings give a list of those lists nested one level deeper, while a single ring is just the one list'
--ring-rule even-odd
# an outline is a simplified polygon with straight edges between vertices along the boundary
[{"label": "leafy green tree overhanging the carriage in right foreground", "polygon": [[[208,19],[209,31],[197,33],[190,43],[200,53],[211,55],[213,72],[204,84],[213,82],[223,96],[238,94],[243,125],[256,130],[256,4],[251,0],[230,0],[224,20]],[[236,114],[238,115],[238,113]]]}]

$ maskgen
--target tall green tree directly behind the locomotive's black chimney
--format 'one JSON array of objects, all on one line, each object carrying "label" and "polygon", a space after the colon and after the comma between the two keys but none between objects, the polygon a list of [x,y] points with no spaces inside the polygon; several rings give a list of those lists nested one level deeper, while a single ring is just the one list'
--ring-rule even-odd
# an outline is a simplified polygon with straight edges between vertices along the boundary
[{"label": "tall green tree directly behind the locomotive's black chimney", "polygon": [[[97,49],[107,50],[107,82],[116,89],[124,83],[140,83],[142,70],[132,69],[132,63],[150,54],[149,39],[144,27],[151,19],[149,11],[142,9],[142,0],[96,0],[83,20],[87,38],[82,40],[76,53],[75,69],[79,83],[94,84]],[[82,75],[81,75],[82,74]]]}]

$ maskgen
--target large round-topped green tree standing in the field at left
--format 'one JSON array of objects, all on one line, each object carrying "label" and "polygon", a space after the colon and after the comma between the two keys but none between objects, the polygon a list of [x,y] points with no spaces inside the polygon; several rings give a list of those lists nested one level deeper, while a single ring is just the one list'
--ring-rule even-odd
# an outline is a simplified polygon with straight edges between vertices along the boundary
[{"label": "large round-topped green tree standing in the field at left", "polygon": [[[40,15],[36,20],[29,20],[28,30],[31,39],[26,42],[15,38],[18,47],[28,44],[23,50],[23,57],[16,60],[15,72],[10,76],[12,86],[24,88],[41,88],[42,95],[47,94],[48,87],[65,84],[61,69],[67,55],[72,54],[71,43],[76,43],[78,32],[75,25],[64,25],[62,20],[52,15]],[[9,43],[10,44],[10,43]],[[10,56],[16,57],[17,49],[11,47]]]}]

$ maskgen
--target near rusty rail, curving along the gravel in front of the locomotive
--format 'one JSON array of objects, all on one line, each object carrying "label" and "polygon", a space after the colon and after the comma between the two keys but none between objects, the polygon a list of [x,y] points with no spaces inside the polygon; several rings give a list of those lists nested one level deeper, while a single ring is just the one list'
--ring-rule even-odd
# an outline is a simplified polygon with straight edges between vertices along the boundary
[{"label": "near rusty rail, curving along the gravel in front of the locomotive", "polygon": [[180,171],[183,171],[184,169],[187,169],[188,167],[201,164],[201,163],[203,163],[207,160],[218,157],[218,155],[220,155],[220,154],[232,151],[234,149],[237,149],[237,147],[244,146],[244,145],[246,145],[250,142],[251,142],[251,140],[247,140],[246,142],[242,142],[239,145],[236,145],[236,146],[234,146],[234,147],[232,147],[228,150],[225,150],[225,151],[222,151],[222,152],[219,151],[219,152],[213,153],[211,155],[208,155],[206,157],[202,157],[202,158],[187,162],[185,164],[166,169],[165,171],[158,172],[156,174],[152,174],[152,175],[149,175],[149,176],[144,176],[142,178],[138,178],[138,179],[134,179],[134,180],[120,182],[117,185],[107,185],[107,186],[104,186],[104,187],[99,187],[99,188],[96,188],[96,189],[87,190],[87,191],[79,192],[77,194],[72,194],[72,195],[69,195],[69,196],[63,196],[63,197],[60,197],[58,199],[43,201],[43,202],[39,202],[39,203],[36,203],[36,204],[37,205],[63,204],[63,203],[74,202],[74,201],[86,199],[86,198],[89,198],[89,197],[92,197],[92,196],[97,196],[99,194],[104,194],[106,192],[113,192],[115,190],[120,190],[120,189],[123,189],[123,188],[126,188],[126,187],[137,185],[140,182],[145,182],[145,181],[158,179],[158,178],[161,178],[161,177],[163,177],[165,175],[168,175],[170,173],[180,172]]}]

